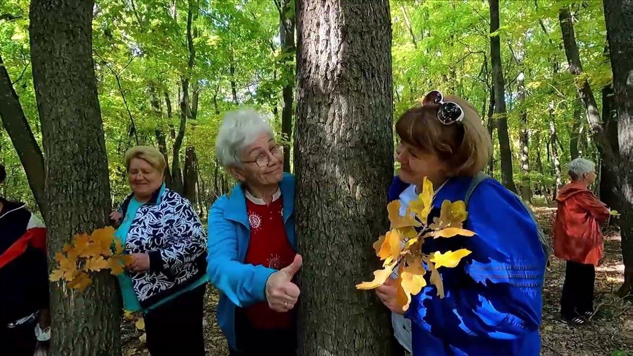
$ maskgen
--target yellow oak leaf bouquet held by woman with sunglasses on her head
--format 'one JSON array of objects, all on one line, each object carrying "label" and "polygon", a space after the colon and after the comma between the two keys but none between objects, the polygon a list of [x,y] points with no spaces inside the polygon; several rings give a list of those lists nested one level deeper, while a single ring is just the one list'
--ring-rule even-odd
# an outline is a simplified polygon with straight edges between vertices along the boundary
[{"label": "yellow oak leaf bouquet held by woman with sunglasses on her head", "polygon": [[[461,258],[471,251],[460,249],[440,253],[422,253],[422,245],[427,238],[452,238],[453,236],[473,236],[475,232],[463,229],[468,213],[463,201],[444,200],[439,218],[427,222],[433,202],[433,184],[425,177],[422,193],[417,200],[411,201],[404,216],[400,216],[400,201],[394,200],[387,205],[391,230],[380,236],[373,244],[376,255],[384,261],[383,269],[373,272],[371,282],[356,285],[357,289],[374,289],[387,281],[394,270],[398,271],[398,302],[403,310],[409,308],[411,295],[417,295],[426,286],[424,275],[429,270],[430,283],[437,288],[437,295],[444,298],[442,277],[437,271],[441,267],[456,267]],[[425,264],[427,268],[424,268]]]}]

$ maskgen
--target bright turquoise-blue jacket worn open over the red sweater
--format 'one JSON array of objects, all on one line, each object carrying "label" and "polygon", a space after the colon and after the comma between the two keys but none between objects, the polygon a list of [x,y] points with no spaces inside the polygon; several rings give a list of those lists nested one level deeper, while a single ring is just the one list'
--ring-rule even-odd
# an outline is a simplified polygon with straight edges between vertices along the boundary
[{"label": "bright turquoise-blue jacket worn open over the red sweater", "polygon": [[[284,203],[285,234],[296,250],[294,238],[294,176],[284,174],[279,183]],[[229,346],[235,345],[235,307],[246,308],[266,300],[268,277],[275,269],[244,264],[251,239],[246,213],[244,188],[237,184],[230,194],[220,196],[209,212],[208,273],[211,283],[220,289],[218,324]]]}]

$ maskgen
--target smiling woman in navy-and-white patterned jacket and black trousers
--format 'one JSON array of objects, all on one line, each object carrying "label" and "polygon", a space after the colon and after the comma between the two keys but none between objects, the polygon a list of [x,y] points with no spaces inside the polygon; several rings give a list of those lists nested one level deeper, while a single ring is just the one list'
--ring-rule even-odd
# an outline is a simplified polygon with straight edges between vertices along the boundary
[{"label": "smiling woman in navy-and-white patterned jacket and black trousers", "polygon": [[125,309],[143,312],[152,356],[204,356],[206,233],[191,203],[166,188],[165,166],[156,148],[125,152],[132,194],[110,218],[134,262],[119,286]]}]

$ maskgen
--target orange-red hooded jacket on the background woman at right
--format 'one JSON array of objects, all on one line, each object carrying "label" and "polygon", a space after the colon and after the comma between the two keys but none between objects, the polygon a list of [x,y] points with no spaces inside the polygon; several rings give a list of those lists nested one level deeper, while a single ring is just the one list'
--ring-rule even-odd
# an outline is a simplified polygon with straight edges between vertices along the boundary
[{"label": "orange-red hooded jacket on the background woman at right", "polygon": [[563,186],[556,201],[554,254],[564,260],[598,265],[603,251],[599,223],[609,219],[605,203],[579,182]]}]

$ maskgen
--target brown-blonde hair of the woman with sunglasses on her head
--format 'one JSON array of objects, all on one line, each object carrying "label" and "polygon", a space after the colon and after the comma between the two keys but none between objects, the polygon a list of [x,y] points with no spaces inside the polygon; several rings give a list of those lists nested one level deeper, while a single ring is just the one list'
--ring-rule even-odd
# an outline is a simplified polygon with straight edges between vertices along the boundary
[{"label": "brown-blonde hair of the woman with sunglasses on her head", "polygon": [[414,106],[396,122],[396,132],[406,144],[437,155],[446,163],[449,176],[473,176],[486,167],[492,153],[490,135],[477,109],[468,101],[445,95],[444,101],[461,106],[461,122],[444,125],[437,118],[438,105]]}]

